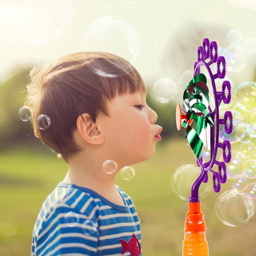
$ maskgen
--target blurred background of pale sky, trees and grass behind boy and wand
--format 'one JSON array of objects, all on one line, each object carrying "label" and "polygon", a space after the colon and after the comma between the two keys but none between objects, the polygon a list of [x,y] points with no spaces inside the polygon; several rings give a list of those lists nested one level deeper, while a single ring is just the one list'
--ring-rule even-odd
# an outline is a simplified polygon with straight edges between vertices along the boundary
[{"label": "blurred background of pale sky, trees and grass behind boy and wand", "polygon": [[[232,152],[237,150],[232,160],[237,156],[239,161],[227,165],[229,177],[220,193],[213,191],[209,174],[211,189],[203,199],[201,196],[209,252],[212,256],[256,255],[253,209],[246,212],[243,202],[240,210],[244,212],[234,207],[233,219],[226,217],[232,219],[230,222],[237,221],[236,211],[242,224],[244,214],[252,215],[246,224],[236,226],[225,223],[215,211],[220,194],[230,189],[248,195],[255,207],[256,179],[246,177],[243,169],[246,160],[255,161],[255,126],[253,117],[250,124],[246,119],[255,103],[255,14],[255,1],[240,0],[0,1],[0,255],[31,254],[37,214],[68,170],[63,159],[34,136],[29,121],[18,115],[27,94],[29,70],[37,63],[78,51],[113,52],[129,60],[143,77],[147,103],[158,115],[156,124],[163,127],[162,140],[157,142],[154,156],[132,165],[136,174],[131,180],[117,173],[116,184],[136,206],[143,255],[181,255],[188,200],[174,192],[171,180],[180,166],[196,164],[196,158],[184,139],[185,129],[176,128],[175,109],[177,103],[183,104],[184,89],[193,78],[197,48],[204,38],[216,41],[219,52],[230,67],[233,65],[227,74],[233,86],[232,104],[222,107],[222,112],[232,111],[236,125],[243,123],[245,127],[235,133],[235,126],[229,137],[222,132],[223,138],[232,141]],[[234,92],[248,82],[254,83],[247,95],[252,108],[244,111]],[[182,182],[176,185],[182,188]]]}]

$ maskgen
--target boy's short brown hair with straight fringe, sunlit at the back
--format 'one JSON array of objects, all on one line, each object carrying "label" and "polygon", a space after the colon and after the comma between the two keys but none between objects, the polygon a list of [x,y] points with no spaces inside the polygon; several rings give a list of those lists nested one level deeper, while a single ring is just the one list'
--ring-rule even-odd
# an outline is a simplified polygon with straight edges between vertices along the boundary
[{"label": "boy's short brown hair with straight fringe, sunlit at the back", "polygon": [[[118,76],[101,76],[94,66]],[[27,100],[35,136],[68,163],[68,157],[81,150],[73,140],[76,120],[88,113],[95,123],[100,111],[109,117],[107,101],[118,95],[142,91],[146,87],[139,72],[124,58],[108,52],[74,52],[58,60],[35,65],[29,72]],[[47,129],[40,129],[36,117],[50,117]],[[83,117],[83,116],[82,116]]]}]

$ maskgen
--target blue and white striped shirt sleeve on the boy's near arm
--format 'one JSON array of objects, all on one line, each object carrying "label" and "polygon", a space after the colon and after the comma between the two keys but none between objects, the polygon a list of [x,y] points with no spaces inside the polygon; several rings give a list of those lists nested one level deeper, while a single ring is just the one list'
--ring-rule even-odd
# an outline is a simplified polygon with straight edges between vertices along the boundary
[{"label": "blue and white striped shirt sleeve on the boy's near arm", "polygon": [[88,218],[68,205],[58,204],[35,239],[36,256],[96,256],[99,227],[97,215],[92,214]]}]

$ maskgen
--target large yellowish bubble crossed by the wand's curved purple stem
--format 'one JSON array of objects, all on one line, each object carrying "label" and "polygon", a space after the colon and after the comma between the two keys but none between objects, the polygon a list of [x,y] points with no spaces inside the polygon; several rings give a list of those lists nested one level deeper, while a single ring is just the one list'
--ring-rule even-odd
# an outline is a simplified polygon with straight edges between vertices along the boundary
[{"label": "large yellowish bubble crossed by the wand's curved purple stem", "polygon": [[[172,174],[171,188],[176,196],[187,201],[191,196],[191,188],[201,173],[201,168],[195,164],[184,164]],[[201,183],[198,191],[200,199],[206,197],[211,192],[210,182]]]}]

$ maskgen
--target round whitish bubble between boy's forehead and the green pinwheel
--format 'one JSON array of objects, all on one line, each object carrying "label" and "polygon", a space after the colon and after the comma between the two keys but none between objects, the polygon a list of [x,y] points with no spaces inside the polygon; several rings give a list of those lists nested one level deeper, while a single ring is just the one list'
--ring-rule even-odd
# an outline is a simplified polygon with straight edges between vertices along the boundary
[{"label": "round whitish bubble between boy's forehead and the green pinwheel", "polygon": [[152,93],[160,103],[169,103],[177,96],[177,84],[169,78],[161,78],[154,84]]}]

